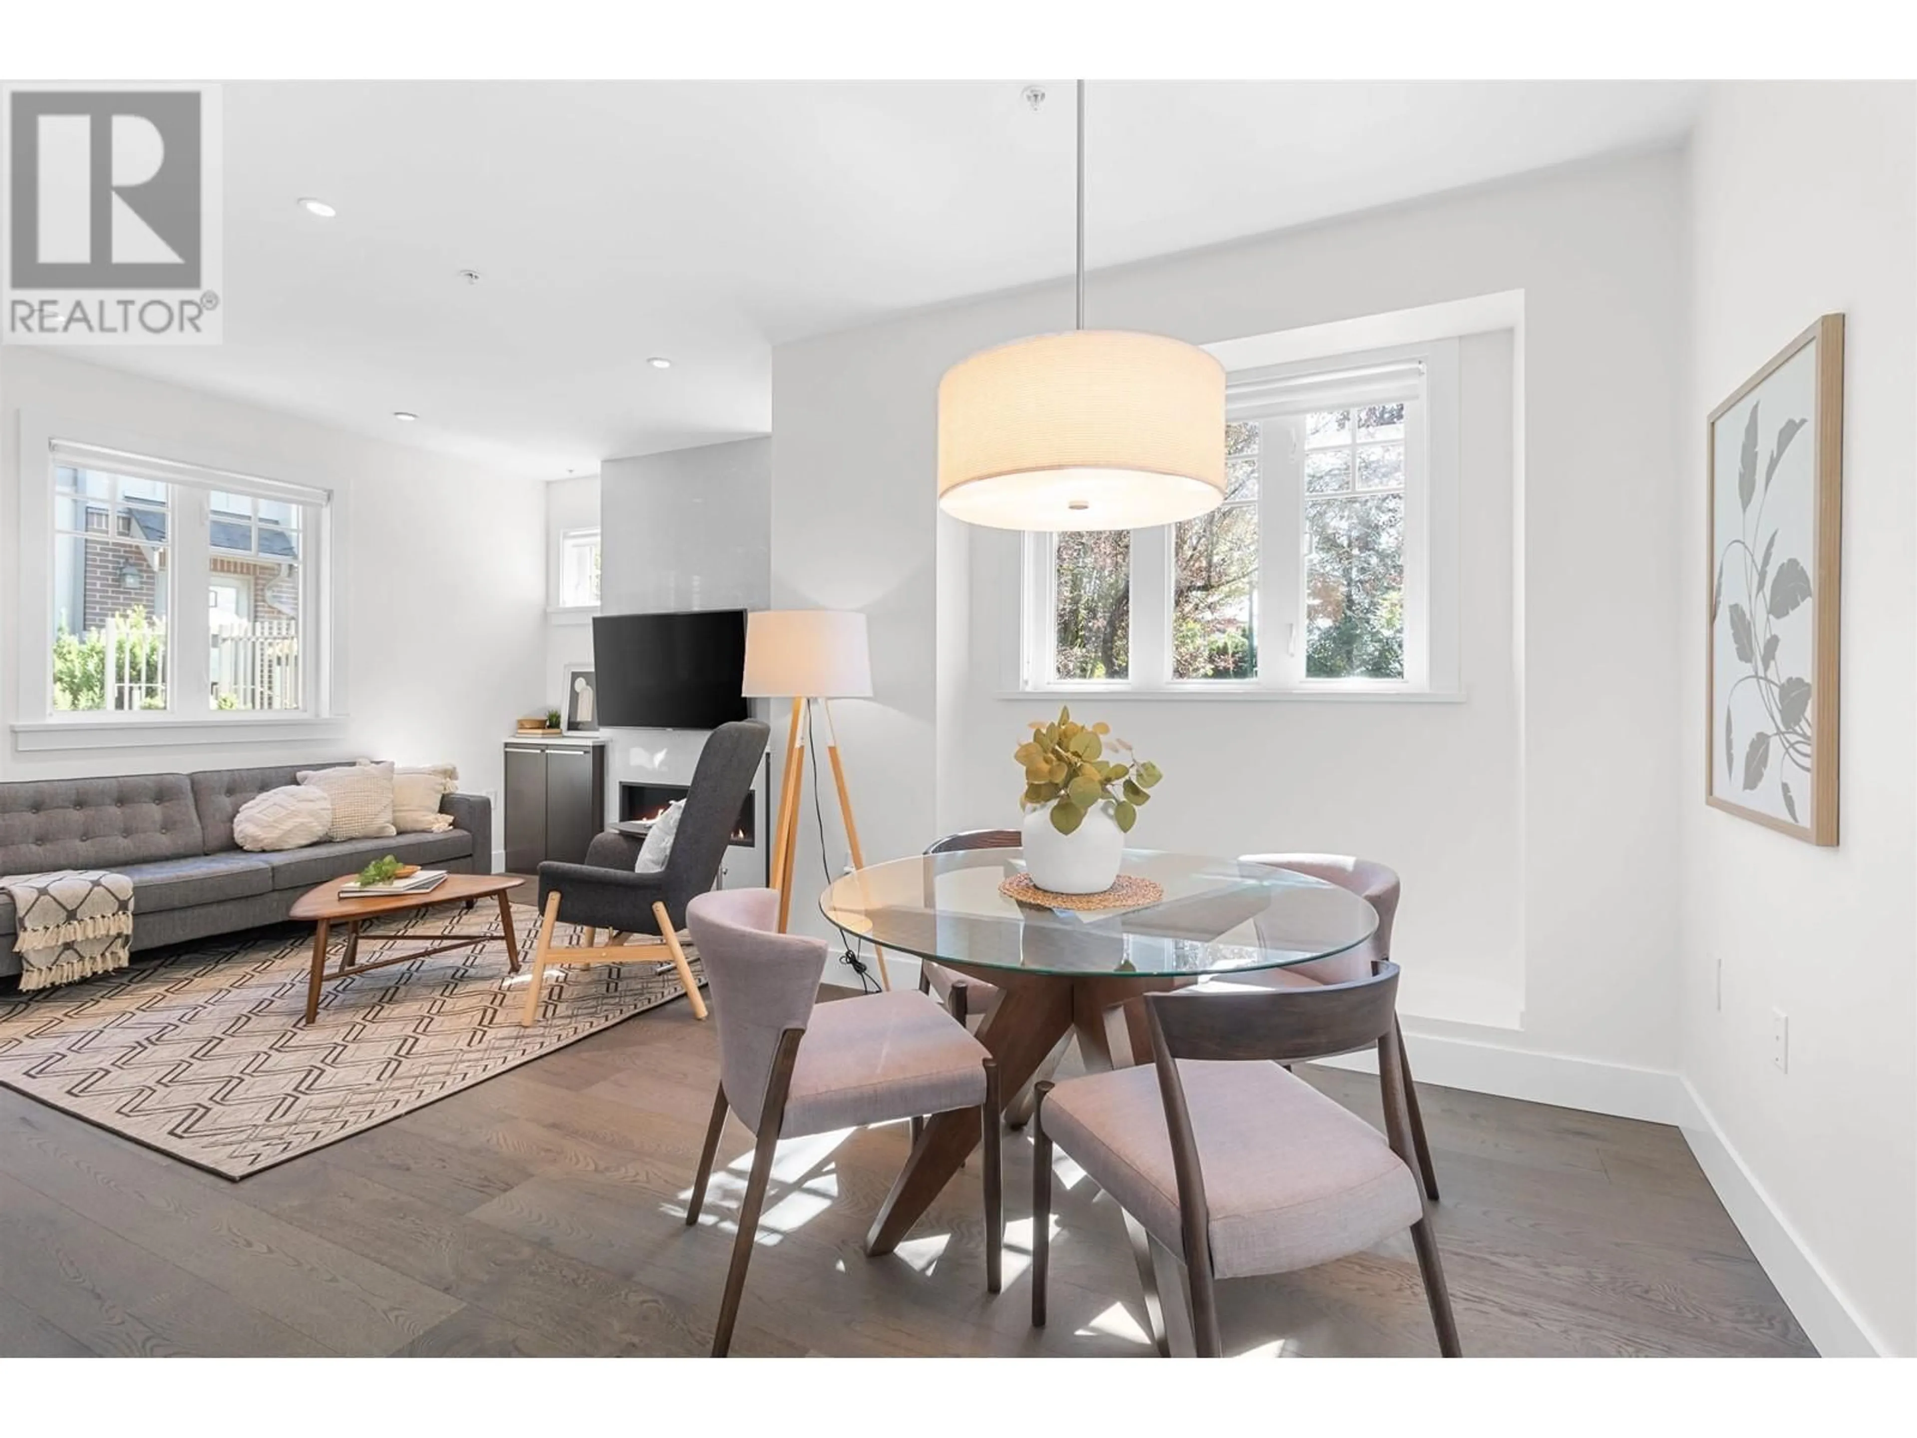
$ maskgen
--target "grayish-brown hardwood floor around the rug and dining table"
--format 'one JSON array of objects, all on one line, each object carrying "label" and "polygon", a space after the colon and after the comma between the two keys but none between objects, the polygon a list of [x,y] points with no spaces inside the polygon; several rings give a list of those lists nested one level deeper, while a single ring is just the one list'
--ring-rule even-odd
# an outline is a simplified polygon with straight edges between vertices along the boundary
[{"label": "grayish-brown hardwood floor around the rug and dining table", "polygon": [[[704,1354],[750,1148],[732,1124],[686,1229],[715,1039],[675,1003],[243,1183],[0,1089],[0,1354]],[[1378,1122],[1374,1079],[1300,1072]],[[1812,1352],[1675,1129],[1420,1095],[1467,1354]],[[734,1354],[1148,1352],[1118,1212],[1083,1181],[1054,1185],[1029,1327],[1022,1135],[1001,1296],[976,1156],[865,1258],[903,1158],[903,1124],[782,1145]],[[1409,1239],[1225,1283],[1219,1313],[1235,1354],[1436,1354]]]}]

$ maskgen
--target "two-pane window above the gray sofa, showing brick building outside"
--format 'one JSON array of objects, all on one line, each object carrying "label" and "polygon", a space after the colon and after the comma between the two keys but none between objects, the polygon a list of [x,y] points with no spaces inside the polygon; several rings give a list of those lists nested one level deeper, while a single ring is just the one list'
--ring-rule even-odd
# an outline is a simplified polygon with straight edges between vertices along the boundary
[{"label": "two-pane window above the gray sofa, showing brick building outside", "polygon": [[52,451],[48,717],[312,713],[326,493]]}]

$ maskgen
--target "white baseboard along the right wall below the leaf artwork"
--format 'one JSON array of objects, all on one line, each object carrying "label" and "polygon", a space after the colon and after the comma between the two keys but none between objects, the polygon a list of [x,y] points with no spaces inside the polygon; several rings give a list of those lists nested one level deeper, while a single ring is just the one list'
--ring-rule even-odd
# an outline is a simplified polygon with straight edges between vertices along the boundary
[{"label": "white baseboard along the right wall below the leaf artwork", "polygon": [[1769,1193],[1739,1152],[1723,1137],[1710,1108],[1683,1079],[1687,1118],[1679,1122],[1698,1168],[1716,1189],[1718,1200],[1744,1235],[1766,1277],[1804,1325],[1804,1333],[1825,1357],[1890,1357],[1882,1342],[1844,1298],[1823,1264],[1771,1202]]}]

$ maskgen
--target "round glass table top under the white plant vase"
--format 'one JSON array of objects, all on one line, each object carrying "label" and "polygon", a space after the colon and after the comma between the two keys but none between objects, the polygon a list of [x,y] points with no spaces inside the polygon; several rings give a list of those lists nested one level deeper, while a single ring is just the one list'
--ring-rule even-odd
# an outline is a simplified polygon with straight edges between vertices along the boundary
[{"label": "round glass table top under the white plant vase", "polygon": [[1371,938],[1378,915],[1319,878],[1236,859],[1127,849],[1123,872],[1166,897],[1143,909],[1016,903],[999,882],[1018,849],[893,859],[836,880],[819,907],[840,932],[884,949],[980,968],[1093,978],[1284,968]]}]

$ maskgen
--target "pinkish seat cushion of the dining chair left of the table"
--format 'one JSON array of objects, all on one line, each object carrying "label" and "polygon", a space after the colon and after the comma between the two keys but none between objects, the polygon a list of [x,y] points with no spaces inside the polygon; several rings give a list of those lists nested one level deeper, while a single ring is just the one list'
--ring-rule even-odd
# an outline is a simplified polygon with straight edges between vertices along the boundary
[{"label": "pinkish seat cushion of the dining chair left of the table", "polygon": [[786,1095],[788,1137],[985,1102],[985,1045],[916,989],[813,1009]]}]

